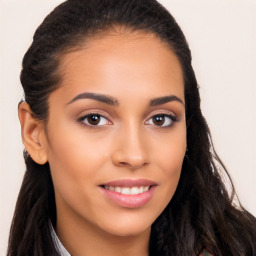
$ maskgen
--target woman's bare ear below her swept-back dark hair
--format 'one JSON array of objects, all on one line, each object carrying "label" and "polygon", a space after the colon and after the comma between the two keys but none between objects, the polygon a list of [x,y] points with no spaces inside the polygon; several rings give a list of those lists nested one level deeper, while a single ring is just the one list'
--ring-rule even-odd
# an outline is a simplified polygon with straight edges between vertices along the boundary
[{"label": "woman's bare ear below her swept-back dark hair", "polygon": [[18,114],[22,141],[27,152],[36,163],[45,164],[47,162],[47,140],[44,123],[33,116],[26,102],[19,104]]}]

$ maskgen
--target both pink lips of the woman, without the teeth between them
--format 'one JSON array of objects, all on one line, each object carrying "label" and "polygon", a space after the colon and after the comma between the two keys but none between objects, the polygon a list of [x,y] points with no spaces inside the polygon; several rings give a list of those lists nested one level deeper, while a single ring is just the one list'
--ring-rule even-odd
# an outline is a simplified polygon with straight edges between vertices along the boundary
[{"label": "both pink lips of the woman, without the teeth between them", "polygon": [[[152,197],[156,188],[156,183],[145,180],[145,179],[138,179],[138,180],[115,180],[104,185],[100,186],[100,189],[103,191],[104,195],[113,201],[114,203],[118,204],[122,207],[127,208],[137,208],[145,205]],[[112,187],[147,187],[149,186],[149,190],[144,191],[142,193],[132,195],[132,194],[122,194],[120,192],[108,190],[104,188],[104,186],[112,186]]]}]

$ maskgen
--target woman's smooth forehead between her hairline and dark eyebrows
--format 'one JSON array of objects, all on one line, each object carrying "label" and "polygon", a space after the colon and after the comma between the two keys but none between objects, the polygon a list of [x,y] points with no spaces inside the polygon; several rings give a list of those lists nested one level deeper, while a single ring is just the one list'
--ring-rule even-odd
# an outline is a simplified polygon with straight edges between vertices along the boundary
[{"label": "woman's smooth forehead between her hairline and dark eyebrows", "polygon": [[[154,34],[111,32],[85,41],[60,57],[62,87],[102,93],[174,90],[183,97],[183,74],[177,56]],[[170,91],[171,90],[171,91]],[[166,92],[165,92],[166,91]]]}]

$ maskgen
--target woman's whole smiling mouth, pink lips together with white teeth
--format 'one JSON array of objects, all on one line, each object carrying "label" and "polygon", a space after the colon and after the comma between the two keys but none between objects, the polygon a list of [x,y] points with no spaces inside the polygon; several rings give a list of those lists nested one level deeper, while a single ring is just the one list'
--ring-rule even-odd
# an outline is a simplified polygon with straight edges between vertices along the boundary
[{"label": "woman's whole smiling mouth, pink lips together with white teeth", "polygon": [[115,180],[102,184],[100,189],[104,196],[121,207],[137,208],[147,204],[154,195],[155,182],[137,180]]}]

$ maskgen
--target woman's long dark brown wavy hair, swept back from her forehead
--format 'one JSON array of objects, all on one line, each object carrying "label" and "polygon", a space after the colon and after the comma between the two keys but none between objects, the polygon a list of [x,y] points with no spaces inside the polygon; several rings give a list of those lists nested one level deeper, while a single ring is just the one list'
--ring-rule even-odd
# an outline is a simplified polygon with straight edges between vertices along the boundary
[{"label": "woman's long dark brown wavy hair, swept back from her forehead", "polygon": [[[200,96],[191,53],[182,30],[155,0],[68,0],[51,12],[36,30],[23,59],[21,83],[25,101],[36,118],[47,122],[48,97],[62,80],[61,57],[79,50],[87,39],[121,26],[156,35],[178,57],[183,70],[187,153],[177,190],[152,224],[150,255],[253,255],[255,221],[239,203],[217,156]],[[26,173],[9,237],[8,256],[59,255],[51,238],[56,224],[54,187],[49,164],[35,163],[24,153]],[[228,193],[222,176],[229,178]]]}]

